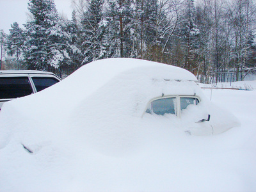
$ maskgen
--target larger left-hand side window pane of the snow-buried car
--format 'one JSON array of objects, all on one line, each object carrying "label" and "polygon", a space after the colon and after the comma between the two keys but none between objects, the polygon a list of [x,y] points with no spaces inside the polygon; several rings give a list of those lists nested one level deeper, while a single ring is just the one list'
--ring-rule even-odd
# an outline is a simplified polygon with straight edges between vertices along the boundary
[{"label": "larger left-hand side window pane of the snow-buried car", "polygon": [[157,99],[152,102],[152,111],[157,115],[164,115],[166,113],[175,114],[176,99],[163,98]]}]

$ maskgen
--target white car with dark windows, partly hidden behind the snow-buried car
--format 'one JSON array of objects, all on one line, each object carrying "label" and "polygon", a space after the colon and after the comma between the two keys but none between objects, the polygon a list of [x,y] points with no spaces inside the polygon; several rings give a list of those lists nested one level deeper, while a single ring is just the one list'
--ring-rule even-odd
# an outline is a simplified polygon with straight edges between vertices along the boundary
[{"label": "white car with dark windows, partly hidden behind the snow-buried car", "polygon": [[0,71],[0,110],[4,102],[40,92],[61,81],[51,72],[38,70],[1,70]]}]

